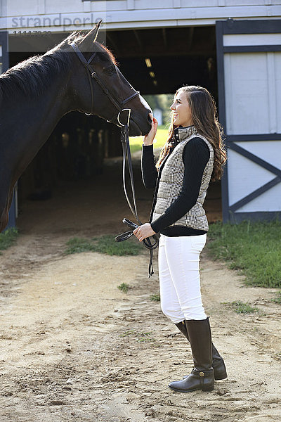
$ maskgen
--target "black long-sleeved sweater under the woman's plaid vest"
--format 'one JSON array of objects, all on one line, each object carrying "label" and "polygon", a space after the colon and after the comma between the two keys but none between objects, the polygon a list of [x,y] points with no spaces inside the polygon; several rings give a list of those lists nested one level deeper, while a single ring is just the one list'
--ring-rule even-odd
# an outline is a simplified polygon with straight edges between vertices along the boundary
[{"label": "black long-sleeved sweater under the woman's plaid vest", "polygon": [[[171,152],[174,148],[171,148]],[[165,236],[196,236],[205,234],[207,231],[193,229],[186,226],[171,226],[178,219],[183,217],[196,203],[199,196],[200,186],[204,168],[210,158],[209,148],[201,138],[195,137],[190,139],[183,148],[184,175],[183,186],[178,198],[155,222],[151,224],[152,230]],[[150,213],[150,222],[153,210],[155,208],[159,178],[165,164],[160,167],[159,172],[155,167],[155,156],[153,154],[153,145],[143,146],[142,154],[142,175],[145,188],[155,188],[152,210]]]}]

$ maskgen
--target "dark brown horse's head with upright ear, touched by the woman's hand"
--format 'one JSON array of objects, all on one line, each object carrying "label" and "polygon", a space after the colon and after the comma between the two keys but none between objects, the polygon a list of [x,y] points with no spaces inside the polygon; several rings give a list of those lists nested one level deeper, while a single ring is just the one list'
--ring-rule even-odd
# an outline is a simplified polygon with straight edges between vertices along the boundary
[{"label": "dark brown horse's head with upright ear, touched by the woman's hand", "polygon": [[86,35],[78,32],[65,39],[65,48],[73,56],[69,80],[72,103],[82,113],[98,115],[115,124],[119,124],[119,111],[130,108],[129,135],[148,134],[150,106],[122,75],[111,51],[96,41],[101,22]]}]

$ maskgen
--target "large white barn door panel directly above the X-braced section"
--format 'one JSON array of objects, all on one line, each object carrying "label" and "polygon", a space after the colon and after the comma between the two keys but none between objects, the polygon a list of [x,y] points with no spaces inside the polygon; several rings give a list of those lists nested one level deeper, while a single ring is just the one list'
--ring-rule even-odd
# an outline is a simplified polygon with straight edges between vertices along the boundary
[{"label": "large white barn door panel directly above the X-braced section", "polygon": [[225,54],[229,135],[281,132],[280,75],[281,52]]}]

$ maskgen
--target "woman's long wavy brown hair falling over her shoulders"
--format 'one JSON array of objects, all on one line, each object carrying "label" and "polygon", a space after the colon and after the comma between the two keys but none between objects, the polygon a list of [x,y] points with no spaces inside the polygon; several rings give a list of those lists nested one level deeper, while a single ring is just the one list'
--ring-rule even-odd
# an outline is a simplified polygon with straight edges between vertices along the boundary
[{"label": "woman's long wavy brown hair falling over her shoulders", "polygon": [[[190,105],[192,121],[197,133],[204,136],[214,148],[214,169],[211,180],[220,180],[223,175],[223,165],[226,162],[226,146],[223,141],[223,128],[218,122],[216,103],[206,88],[197,87],[195,85],[186,85],[176,91],[184,91],[188,97]],[[176,97],[175,94],[175,97]],[[168,139],[161,150],[159,160],[157,161],[157,169],[162,161],[169,154],[170,149],[174,146],[171,142],[174,137],[174,129],[176,126],[171,116],[171,124],[168,132]]]}]

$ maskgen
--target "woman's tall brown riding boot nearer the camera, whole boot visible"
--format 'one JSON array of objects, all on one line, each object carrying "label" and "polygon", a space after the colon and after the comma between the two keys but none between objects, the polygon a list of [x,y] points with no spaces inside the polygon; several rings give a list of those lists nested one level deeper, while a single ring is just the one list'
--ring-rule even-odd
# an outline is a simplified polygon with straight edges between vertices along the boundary
[{"label": "woman's tall brown riding boot nearer the camera, whole boot visible", "polygon": [[214,390],[214,369],[211,366],[211,329],[208,319],[185,321],[195,368],[187,378],[169,383],[178,392]]}]

